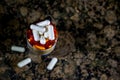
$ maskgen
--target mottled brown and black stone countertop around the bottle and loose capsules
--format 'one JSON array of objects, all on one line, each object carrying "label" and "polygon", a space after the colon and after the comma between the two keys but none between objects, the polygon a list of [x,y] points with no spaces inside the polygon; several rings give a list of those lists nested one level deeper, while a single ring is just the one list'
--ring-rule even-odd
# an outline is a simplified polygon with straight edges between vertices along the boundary
[{"label": "mottled brown and black stone countertop around the bottle and loose capsules", "polygon": [[[51,55],[31,54],[31,23],[54,18],[59,39]],[[0,80],[120,80],[120,3],[117,0],[1,0]],[[24,46],[24,53],[11,45]],[[46,70],[51,57],[59,61]],[[26,57],[32,63],[16,64]]]}]

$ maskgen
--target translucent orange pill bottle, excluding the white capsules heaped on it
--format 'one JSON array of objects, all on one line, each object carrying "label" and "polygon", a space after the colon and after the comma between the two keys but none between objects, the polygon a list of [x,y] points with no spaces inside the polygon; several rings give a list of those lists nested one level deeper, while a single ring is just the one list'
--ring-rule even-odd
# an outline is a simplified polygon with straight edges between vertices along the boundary
[{"label": "translucent orange pill bottle, excluding the white capsules heaped on it", "polygon": [[[42,21],[40,21],[40,22],[42,22]],[[40,23],[40,22],[38,22],[38,23]],[[30,28],[27,30],[26,40],[27,40],[27,46],[28,46],[28,49],[30,50],[30,52],[32,52],[34,54],[39,54],[39,55],[48,55],[54,50],[57,40],[58,40],[58,31],[57,31],[55,23],[52,22],[52,20],[50,20],[50,25],[53,26],[55,38],[54,38],[54,40],[49,40],[49,38],[45,38],[45,40],[46,40],[45,44],[41,44],[40,41],[35,41],[32,30]]]}]

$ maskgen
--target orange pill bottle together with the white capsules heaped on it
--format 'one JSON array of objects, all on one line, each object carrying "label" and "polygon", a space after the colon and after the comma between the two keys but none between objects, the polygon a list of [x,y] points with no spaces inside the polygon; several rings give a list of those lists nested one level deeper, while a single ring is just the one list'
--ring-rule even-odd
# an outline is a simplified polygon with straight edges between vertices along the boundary
[{"label": "orange pill bottle together with the white capsules heaped on it", "polygon": [[55,24],[50,20],[44,20],[30,25],[30,30],[27,31],[27,38],[28,47],[33,49],[33,53],[44,55],[54,50],[58,32]]}]

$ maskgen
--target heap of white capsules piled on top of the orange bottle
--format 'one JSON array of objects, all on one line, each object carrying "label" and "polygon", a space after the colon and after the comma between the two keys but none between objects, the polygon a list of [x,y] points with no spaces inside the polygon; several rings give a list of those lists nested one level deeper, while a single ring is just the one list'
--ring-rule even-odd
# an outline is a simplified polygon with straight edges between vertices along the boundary
[{"label": "heap of white capsules piled on top of the orange bottle", "polygon": [[46,38],[49,40],[55,39],[54,27],[49,20],[41,21],[36,25],[31,24],[30,28],[32,29],[34,40],[40,41],[41,44],[46,44]]}]

